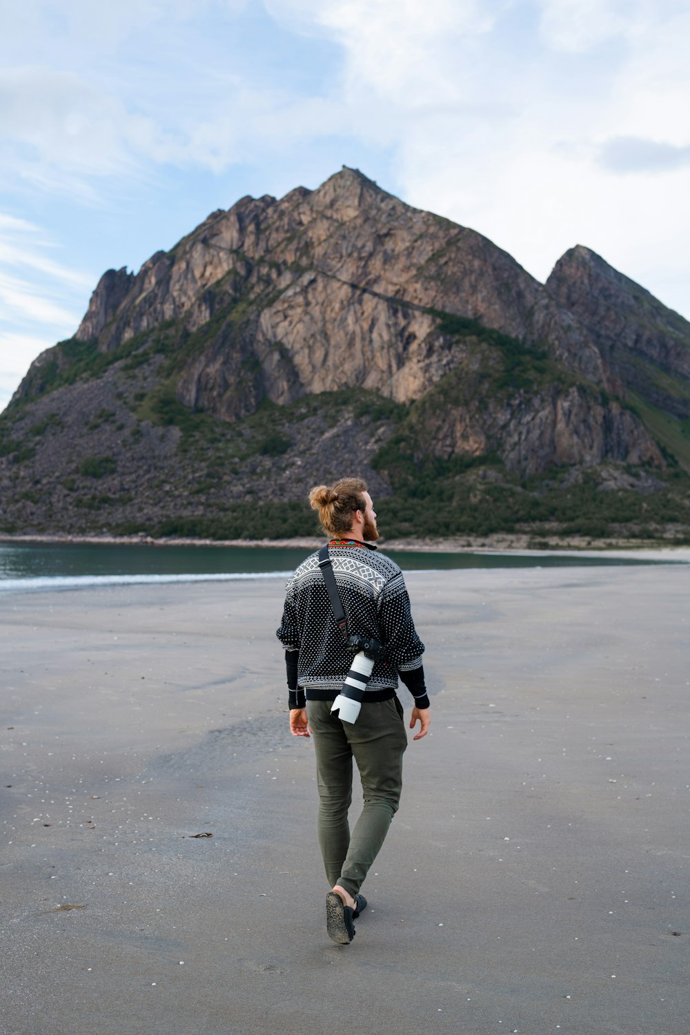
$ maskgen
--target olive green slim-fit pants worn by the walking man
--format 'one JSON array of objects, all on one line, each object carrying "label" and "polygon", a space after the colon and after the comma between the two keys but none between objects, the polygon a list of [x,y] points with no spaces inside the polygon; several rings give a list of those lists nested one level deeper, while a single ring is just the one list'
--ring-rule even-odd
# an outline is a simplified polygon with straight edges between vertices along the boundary
[{"label": "olive green slim-fit pants worn by the walking man", "polygon": [[[339,884],[356,895],[397,811],[408,735],[397,698],[363,704],[354,723],[331,714],[332,704],[306,705],[317,753],[319,844],[330,886]],[[364,807],[351,835],[353,758]]]}]

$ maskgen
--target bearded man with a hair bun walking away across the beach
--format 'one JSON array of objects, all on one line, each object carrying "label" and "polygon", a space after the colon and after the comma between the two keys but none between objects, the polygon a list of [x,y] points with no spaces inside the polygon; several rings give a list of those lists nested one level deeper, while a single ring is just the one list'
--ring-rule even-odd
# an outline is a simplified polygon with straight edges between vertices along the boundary
[{"label": "bearded man with a hair bun walking away across the beach", "polygon": [[[400,800],[408,737],[395,692],[398,676],[415,699],[415,740],[428,731],[429,700],[424,645],[402,573],[371,544],[379,532],[366,482],[342,478],[330,489],[320,485],[309,502],[332,538],[289,581],[277,637],[286,648],[290,729],[295,737],[313,734],[319,842],[332,886],[327,929],[332,941],[347,945],[355,936],[353,920],[366,907],[360,888]],[[364,806],[351,835],[353,758]]]}]

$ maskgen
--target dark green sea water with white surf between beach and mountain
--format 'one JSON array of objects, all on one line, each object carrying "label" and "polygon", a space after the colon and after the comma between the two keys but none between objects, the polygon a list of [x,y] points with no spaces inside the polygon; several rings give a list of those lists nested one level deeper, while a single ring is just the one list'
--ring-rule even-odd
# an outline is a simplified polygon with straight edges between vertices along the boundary
[{"label": "dark green sea water with white surf between beach and mountain", "polygon": [[[0,593],[137,583],[288,578],[307,556],[297,546],[153,546],[150,544],[0,542]],[[649,564],[581,554],[456,554],[386,551],[403,571],[449,568],[582,567]]]}]

